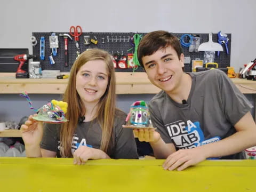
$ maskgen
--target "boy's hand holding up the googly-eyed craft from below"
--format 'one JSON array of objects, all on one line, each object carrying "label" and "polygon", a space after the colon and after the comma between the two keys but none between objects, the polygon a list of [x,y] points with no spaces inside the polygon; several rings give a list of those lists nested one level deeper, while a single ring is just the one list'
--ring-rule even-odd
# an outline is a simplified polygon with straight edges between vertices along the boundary
[{"label": "boy's hand holding up the googly-eyed craft from below", "polygon": [[155,131],[154,128],[140,128],[140,129],[133,129],[133,134],[135,138],[138,138],[139,141],[146,141],[146,142],[157,142],[161,137],[158,132]]}]

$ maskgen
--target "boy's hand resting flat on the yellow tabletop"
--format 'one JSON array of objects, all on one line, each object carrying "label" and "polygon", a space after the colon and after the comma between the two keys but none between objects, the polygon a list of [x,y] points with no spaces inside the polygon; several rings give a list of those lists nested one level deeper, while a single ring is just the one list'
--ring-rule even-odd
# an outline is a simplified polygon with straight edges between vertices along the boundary
[{"label": "boy's hand resting flat on the yellow tabletop", "polygon": [[200,147],[192,149],[180,149],[169,155],[163,164],[165,170],[178,171],[186,169],[190,165],[195,165],[206,159]]}]

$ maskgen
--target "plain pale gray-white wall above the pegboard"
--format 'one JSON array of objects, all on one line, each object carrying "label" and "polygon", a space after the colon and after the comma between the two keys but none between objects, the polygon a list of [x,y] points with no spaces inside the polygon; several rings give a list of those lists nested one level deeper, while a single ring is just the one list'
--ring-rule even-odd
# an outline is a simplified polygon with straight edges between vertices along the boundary
[{"label": "plain pale gray-white wall above the pegboard", "polygon": [[254,0],[6,0],[0,3],[0,48],[29,47],[32,32],[231,33],[231,66],[238,71],[254,58]]}]

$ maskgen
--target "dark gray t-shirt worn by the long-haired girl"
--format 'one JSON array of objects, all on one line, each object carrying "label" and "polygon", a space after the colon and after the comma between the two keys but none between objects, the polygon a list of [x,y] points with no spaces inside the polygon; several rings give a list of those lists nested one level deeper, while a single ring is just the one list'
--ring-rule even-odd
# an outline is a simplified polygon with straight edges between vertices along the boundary
[{"label": "dark gray t-shirt worn by the long-haired girl", "polygon": [[[114,150],[113,154],[108,154],[111,158],[138,158],[137,147],[131,129],[123,129],[126,114],[116,110],[114,123]],[[100,149],[102,131],[98,121],[78,123],[73,135],[71,144],[72,154],[81,145]],[[60,125],[45,124],[41,148],[57,152],[60,155]]]}]

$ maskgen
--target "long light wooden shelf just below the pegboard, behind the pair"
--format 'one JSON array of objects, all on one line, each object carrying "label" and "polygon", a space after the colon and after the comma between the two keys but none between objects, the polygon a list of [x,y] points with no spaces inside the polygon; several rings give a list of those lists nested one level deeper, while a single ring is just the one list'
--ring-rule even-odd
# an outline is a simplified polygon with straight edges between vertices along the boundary
[{"label": "long light wooden shelf just below the pegboard, behind the pair", "polygon": [[[247,79],[231,78],[242,93],[256,93],[256,82]],[[15,73],[0,73],[0,93],[15,94],[27,91],[39,94],[64,93],[68,79],[17,79]],[[117,94],[158,93],[160,89],[152,85],[143,72],[116,72]]]}]

